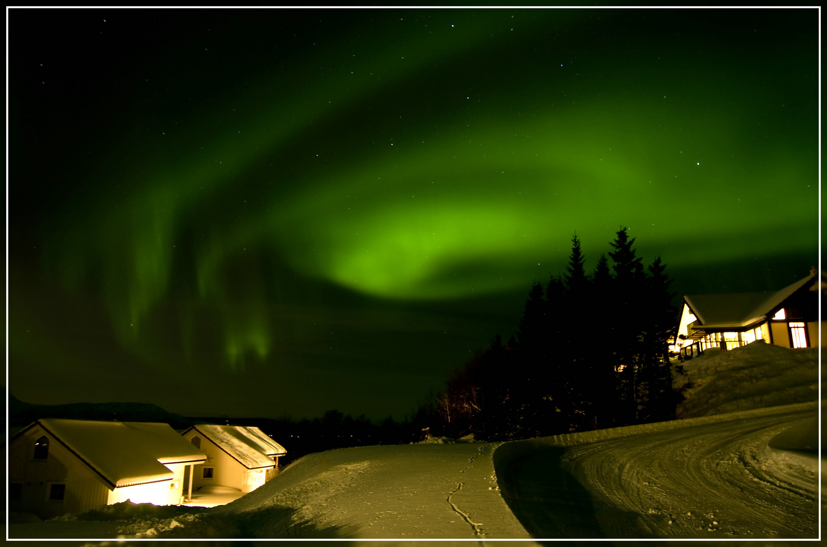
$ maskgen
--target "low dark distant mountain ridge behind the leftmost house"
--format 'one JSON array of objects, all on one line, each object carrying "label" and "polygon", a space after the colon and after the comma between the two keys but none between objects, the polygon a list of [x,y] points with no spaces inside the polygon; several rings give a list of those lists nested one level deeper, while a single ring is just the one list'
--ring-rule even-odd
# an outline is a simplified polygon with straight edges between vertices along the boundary
[{"label": "low dark distant mountain ridge behind the leftmost house", "polygon": [[165,411],[149,402],[71,402],[65,405],[38,405],[23,402],[9,393],[9,426],[27,426],[41,418],[70,420],[156,421],[184,429],[193,421],[180,414]]}]

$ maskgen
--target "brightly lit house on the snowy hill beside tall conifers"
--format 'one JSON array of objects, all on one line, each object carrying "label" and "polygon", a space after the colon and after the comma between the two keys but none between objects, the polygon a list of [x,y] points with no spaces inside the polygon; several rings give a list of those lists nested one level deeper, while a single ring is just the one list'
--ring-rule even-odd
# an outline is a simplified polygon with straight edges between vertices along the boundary
[{"label": "brightly lit house on the snowy hill beside tall conifers", "polygon": [[733,350],[756,340],[785,348],[818,345],[824,290],[825,274],[817,276],[813,269],[774,293],[687,295],[674,349],[688,359],[709,348]]}]

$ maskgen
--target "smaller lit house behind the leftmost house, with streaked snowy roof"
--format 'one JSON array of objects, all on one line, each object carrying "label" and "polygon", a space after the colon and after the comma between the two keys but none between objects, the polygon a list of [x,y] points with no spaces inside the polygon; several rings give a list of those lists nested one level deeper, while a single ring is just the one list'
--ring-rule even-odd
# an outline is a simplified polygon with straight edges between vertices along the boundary
[{"label": "smaller lit house behind the leftmost house, with streaked snowy roof", "polygon": [[199,424],[181,435],[207,456],[195,470],[194,491],[223,486],[252,492],[279,473],[279,456],[287,454],[258,427]]}]

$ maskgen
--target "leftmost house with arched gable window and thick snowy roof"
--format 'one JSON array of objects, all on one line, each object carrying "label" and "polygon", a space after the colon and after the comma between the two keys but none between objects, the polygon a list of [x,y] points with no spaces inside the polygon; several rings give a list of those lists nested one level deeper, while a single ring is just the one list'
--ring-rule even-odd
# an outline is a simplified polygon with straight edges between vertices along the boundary
[{"label": "leftmost house with arched gable window and thick snowy roof", "polygon": [[127,499],[178,504],[206,460],[169,424],[44,418],[12,437],[9,510],[41,518]]}]

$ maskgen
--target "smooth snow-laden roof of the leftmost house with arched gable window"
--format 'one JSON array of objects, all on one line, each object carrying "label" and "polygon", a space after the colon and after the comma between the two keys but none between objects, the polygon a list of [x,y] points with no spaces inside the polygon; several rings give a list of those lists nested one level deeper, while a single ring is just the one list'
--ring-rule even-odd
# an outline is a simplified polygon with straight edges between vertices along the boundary
[{"label": "smooth snow-laden roof of the leftmost house with arched gable window", "polygon": [[163,464],[206,459],[169,424],[44,418],[29,428],[38,425],[114,488],[170,480],[174,474]]}]

